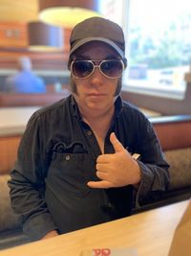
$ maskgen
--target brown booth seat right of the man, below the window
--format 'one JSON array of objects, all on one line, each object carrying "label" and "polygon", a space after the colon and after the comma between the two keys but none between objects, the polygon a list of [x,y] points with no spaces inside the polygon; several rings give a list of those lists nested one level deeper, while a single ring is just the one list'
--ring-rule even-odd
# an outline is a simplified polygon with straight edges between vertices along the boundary
[{"label": "brown booth seat right of the man, below the window", "polygon": [[134,213],[191,198],[191,115],[150,118],[170,165],[170,183],[161,198],[135,207]]}]

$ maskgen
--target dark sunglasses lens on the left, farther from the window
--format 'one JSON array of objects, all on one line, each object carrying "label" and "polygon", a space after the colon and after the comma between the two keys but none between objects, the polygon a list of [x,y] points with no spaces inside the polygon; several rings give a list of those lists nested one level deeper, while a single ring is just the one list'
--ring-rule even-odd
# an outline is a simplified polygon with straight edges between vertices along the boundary
[{"label": "dark sunglasses lens on the left, farther from the window", "polygon": [[72,65],[72,72],[76,78],[88,77],[93,72],[93,69],[93,63],[87,60],[76,60]]}]

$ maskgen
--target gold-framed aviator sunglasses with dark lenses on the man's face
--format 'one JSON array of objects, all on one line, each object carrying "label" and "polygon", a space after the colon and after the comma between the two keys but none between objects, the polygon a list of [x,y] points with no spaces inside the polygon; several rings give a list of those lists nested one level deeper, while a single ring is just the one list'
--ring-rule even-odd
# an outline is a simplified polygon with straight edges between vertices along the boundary
[{"label": "gold-framed aviator sunglasses with dark lenses on the man's face", "polygon": [[87,79],[93,75],[96,67],[99,72],[109,79],[120,78],[124,70],[124,63],[121,59],[104,59],[98,65],[97,60],[74,60],[71,63],[71,72],[76,79]]}]

